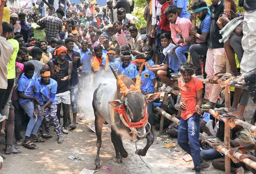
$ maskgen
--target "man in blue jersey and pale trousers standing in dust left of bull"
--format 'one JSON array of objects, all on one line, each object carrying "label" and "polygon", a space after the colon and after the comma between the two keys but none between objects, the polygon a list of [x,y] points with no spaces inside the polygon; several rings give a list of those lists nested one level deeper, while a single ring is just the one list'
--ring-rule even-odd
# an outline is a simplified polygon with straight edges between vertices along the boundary
[{"label": "man in blue jersey and pale trousers standing in dust left of bull", "polygon": [[91,81],[91,60],[93,57],[92,52],[90,49],[88,49],[88,41],[82,40],[81,41],[81,49],[78,50],[78,53],[80,54],[80,60],[82,65],[82,72],[79,72],[80,81],[79,81],[79,88],[84,89],[85,85],[88,84],[88,82]]}]

